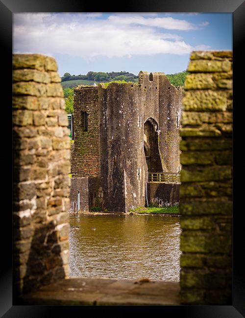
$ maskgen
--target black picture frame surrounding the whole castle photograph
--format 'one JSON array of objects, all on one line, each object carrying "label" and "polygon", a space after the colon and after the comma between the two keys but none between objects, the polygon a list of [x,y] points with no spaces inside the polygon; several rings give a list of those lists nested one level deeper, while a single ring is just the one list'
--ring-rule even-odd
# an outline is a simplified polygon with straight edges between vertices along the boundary
[{"label": "black picture frame surrounding the whole castle photograph", "polygon": [[[11,145],[11,142],[5,139],[6,136],[12,136],[12,111],[10,105],[12,103],[12,15],[18,12],[231,12],[233,13],[233,100],[235,121],[233,130],[233,140],[239,139],[243,122],[240,116],[242,108],[244,108],[244,83],[239,80],[239,73],[243,72],[243,50],[244,33],[245,33],[245,2],[244,0],[175,0],[175,1],[122,1],[115,4],[105,1],[93,2],[78,0],[1,0],[0,1],[0,41],[1,41],[1,66],[4,74],[3,94],[5,97],[4,118],[6,120],[6,128],[4,128],[3,140],[4,144]],[[8,106],[7,106],[8,105]],[[7,119],[6,119],[7,118]],[[241,122],[239,122],[239,119]],[[2,143],[3,144],[3,143]],[[233,180],[239,180],[242,167],[244,165],[243,156],[236,158],[236,151],[240,153],[243,144],[238,142],[236,145],[233,141]],[[9,211],[9,200],[5,184],[11,184],[11,171],[13,158],[11,146],[7,147],[10,151],[7,155],[2,154],[2,180],[4,181],[4,191],[2,192],[2,201],[6,204],[2,207],[2,229],[6,228],[4,233],[1,230],[1,243],[6,248],[5,253],[1,257],[0,272],[0,315],[1,317],[50,317],[57,315],[58,312],[67,315],[73,311],[76,314],[83,314],[85,308],[79,306],[12,306],[12,213]],[[6,149],[4,146],[4,149]],[[3,156],[4,155],[4,156]],[[237,178],[238,176],[238,178]],[[237,179],[236,179],[237,178]],[[236,186],[233,182],[233,202],[242,204],[243,187]],[[7,193],[6,193],[7,192]],[[233,305],[232,306],[165,306],[161,308],[164,314],[179,314],[180,317],[188,318],[236,318],[245,317],[245,279],[244,279],[244,263],[242,261],[243,252],[245,251],[244,222],[242,219],[243,205],[241,208],[233,208]],[[95,310],[95,307],[86,310]],[[121,307],[121,309],[123,309]],[[147,308],[144,308],[144,311]],[[162,312],[163,310],[163,312]],[[152,307],[150,308],[152,311]],[[123,313],[123,312],[122,312]]]}]

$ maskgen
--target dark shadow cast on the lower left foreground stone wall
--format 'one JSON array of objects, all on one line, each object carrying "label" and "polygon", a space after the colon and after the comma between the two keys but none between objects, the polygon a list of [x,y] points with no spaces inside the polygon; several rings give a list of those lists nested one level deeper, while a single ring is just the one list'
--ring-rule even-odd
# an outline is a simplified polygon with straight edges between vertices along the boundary
[{"label": "dark shadow cast on the lower left foreground stone wall", "polygon": [[[20,239],[18,234],[18,230],[16,230],[14,232],[15,241]],[[65,277],[62,251],[58,241],[54,221],[46,225],[39,224],[34,230],[30,248],[27,247],[28,255],[24,252],[15,257],[14,279],[16,281],[19,277],[24,276],[22,280],[24,294]],[[28,245],[28,243],[26,244]],[[26,258],[27,260],[25,260]],[[26,265],[21,265],[23,263]],[[15,292],[14,298],[18,299],[19,291]]]}]

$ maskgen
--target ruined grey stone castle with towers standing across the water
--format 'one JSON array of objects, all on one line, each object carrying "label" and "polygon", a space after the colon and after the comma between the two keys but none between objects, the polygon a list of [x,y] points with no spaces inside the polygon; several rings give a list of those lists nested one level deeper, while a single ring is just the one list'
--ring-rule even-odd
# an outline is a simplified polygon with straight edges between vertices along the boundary
[{"label": "ruined grey stone castle with towers standing across the water", "polygon": [[71,206],[128,211],[145,206],[152,192],[176,197],[176,184],[150,184],[148,176],[180,171],[182,99],[183,88],[159,72],[140,71],[139,84],[77,87]]}]

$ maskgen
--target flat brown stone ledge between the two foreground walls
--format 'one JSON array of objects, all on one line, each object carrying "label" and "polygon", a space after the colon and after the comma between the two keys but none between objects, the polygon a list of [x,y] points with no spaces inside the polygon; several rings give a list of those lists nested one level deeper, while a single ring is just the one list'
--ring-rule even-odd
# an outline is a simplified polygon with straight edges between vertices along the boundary
[{"label": "flat brown stone ledge between the two foreground walls", "polygon": [[24,305],[166,306],[179,305],[177,282],[67,278],[24,295]]}]

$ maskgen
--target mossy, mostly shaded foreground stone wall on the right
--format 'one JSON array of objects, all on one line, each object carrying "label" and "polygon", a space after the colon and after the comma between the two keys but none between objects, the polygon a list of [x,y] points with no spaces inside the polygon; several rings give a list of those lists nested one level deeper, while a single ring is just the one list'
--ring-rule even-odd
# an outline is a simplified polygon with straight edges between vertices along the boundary
[{"label": "mossy, mostly shaded foreground stone wall on the right", "polygon": [[196,51],[180,134],[181,302],[232,304],[232,52]]}]

